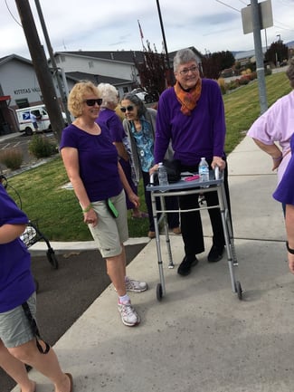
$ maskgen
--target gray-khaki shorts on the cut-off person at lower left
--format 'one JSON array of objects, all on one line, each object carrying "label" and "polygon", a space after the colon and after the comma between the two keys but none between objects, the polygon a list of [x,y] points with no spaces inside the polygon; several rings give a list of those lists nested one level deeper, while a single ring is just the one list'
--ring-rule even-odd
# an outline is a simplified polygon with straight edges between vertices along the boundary
[{"label": "gray-khaki shorts on the cut-off person at lower left", "polygon": [[[27,300],[30,311],[35,319],[36,294],[33,292]],[[0,339],[7,349],[21,346],[34,339],[33,330],[22,305],[11,311],[0,313]]]}]

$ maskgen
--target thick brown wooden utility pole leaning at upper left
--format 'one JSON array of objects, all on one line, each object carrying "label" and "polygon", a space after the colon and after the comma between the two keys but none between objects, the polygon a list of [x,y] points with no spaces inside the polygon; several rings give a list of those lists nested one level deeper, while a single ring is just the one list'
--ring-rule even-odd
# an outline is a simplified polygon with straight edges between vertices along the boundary
[{"label": "thick brown wooden utility pole leaning at upper left", "polygon": [[43,45],[40,42],[37,29],[34,24],[32,10],[28,0],[15,0],[15,4],[21,18],[24,35],[31,53],[33,68],[42,91],[43,102],[48,110],[52,131],[56,139],[60,141],[62,137],[62,129],[64,128],[62,110],[56,96],[56,91],[52,81],[52,74],[48,67]]}]

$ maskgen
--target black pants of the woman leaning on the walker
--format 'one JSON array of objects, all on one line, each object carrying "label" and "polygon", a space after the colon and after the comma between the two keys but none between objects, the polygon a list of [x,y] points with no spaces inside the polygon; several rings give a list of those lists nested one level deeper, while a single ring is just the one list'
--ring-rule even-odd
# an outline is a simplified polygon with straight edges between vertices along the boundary
[{"label": "black pants of the woman leaning on the walker", "polygon": [[[208,161],[209,166],[211,161]],[[196,172],[198,167],[182,166],[181,171]],[[231,216],[231,203],[228,186],[228,168],[227,165],[223,173],[223,186],[227,205]],[[219,204],[217,192],[207,192],[204,194],[207,206],[216,206]],[[179,203],[182,209],[192,209],[199,207],[198,195],[186,195],[179,197]],[[213,229],[213,244],[222,248],[225,244],[223,235],[222,215],[219,208],[208,209],[212,229]],[[199,211],[181,213],[181,230],[183,241],[185,244],[185,255],[194,257],[197,253],[204,252],[204,233]]]}]

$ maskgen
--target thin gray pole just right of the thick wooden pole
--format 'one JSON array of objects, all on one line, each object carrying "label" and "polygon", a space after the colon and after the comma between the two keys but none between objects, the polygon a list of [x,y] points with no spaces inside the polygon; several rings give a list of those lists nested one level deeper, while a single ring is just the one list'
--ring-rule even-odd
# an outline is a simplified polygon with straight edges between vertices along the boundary
[{"label": "thin gray pole just right of the thick wooden pole", "polygon": [[55,62],[55,58],[54,58],[54,54],[53,54],[53,51],[52,51],[52,46],[51,46],[49,34],[47,32],[46,24],[45,24],[45,21],[44,21],[44,18],[43,18],[42,8],[41,8],[39,0],[34,0],[34,3],[35,3],[36,8],[37,8],[37,12],[38,12],[38,15],[39,15],[40,23],[42,25],[44,38],[45,38],[45,41],[46,41],[46,44],[47,44],[49,57],[50,57],[50,60],[51,60],[51,63],[52,63],[53,74],[56,77],[56,81],[57,81],[57,84],[58,84],[58,89],[59,89],[59,92],[61,94],[63,110],[65,111],[65,114],[66,114],[66,120],[67,120],[67,122],[69,124],[71,124],[71,113],[67,109],[67,96],[65,95],[64,89],[62,87],[61,75],[59,74],[59,69],[57,68],[57,65],[56,65],[56,62]]}]

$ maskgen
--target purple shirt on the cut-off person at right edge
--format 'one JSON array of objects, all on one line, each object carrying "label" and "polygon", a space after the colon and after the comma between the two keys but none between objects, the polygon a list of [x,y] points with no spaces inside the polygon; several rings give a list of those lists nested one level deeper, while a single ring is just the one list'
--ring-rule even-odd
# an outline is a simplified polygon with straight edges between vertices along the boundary
[{"label": "purple shirt on the cut-off person at right edge", "polygon": [[288,167],[272,196],[280,203],[294,206],[294,134],[290,139],[290,146],[292,155]]}]

